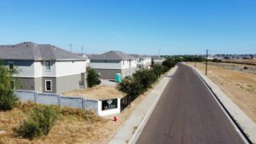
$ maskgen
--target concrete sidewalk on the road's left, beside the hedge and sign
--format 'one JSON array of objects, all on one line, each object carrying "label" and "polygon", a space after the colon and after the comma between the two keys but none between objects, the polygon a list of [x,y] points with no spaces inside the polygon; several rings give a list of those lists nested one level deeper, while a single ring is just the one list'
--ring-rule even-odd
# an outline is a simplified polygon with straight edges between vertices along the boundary
[{"label": "concrete sidewalk on the road's left, beside the hedge and sign", "polygon": [[126,144],[126,143],[135,143],[137,137],[143,130],[143,127],[148,121],[151,113],[154,110],[157,102],[160,99],[160,95],[166,88],[166,85],[170,81],[172,74],[176,72],[177,66],[172,68],[168,72],[167,77],[162,78],[154,89],[150,92],[149,95],[142,101],[134,112],[131,113],[129,119],[126,120],[123,128],[114,136],[113,140],[108,144]]}]

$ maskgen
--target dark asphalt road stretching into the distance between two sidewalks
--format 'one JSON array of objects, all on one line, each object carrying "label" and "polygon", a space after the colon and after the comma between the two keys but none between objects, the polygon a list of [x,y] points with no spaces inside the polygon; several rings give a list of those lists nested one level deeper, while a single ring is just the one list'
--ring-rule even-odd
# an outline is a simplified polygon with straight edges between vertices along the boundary
[{"label": "dark asphalt road stretching into the distance between two sidewalks", "polygon": [[189,66],[179,64],[172,77],[137,144],[244,143]]}]

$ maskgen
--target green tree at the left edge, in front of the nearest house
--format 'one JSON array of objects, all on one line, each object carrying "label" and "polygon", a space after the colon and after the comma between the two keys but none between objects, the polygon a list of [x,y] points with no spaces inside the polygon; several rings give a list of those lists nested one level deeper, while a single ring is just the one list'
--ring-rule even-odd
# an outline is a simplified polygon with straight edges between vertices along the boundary
[{"label": "green tree at the left edge, in front of the nearest house", "polygon": [[16,70],[9,71],[0,61],[0,110],[13,109],[19,100],[12,89],[12,76]]}]

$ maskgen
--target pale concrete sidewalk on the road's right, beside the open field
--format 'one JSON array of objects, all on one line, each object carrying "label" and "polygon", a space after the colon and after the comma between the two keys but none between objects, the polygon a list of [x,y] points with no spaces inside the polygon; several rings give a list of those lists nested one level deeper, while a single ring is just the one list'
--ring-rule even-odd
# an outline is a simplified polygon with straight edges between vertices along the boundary
[{"label": "pale concrete sidewalk on the road's right, beside the open field", "polygon": [[230,98],[227,95],[225,95],[224,92],[221,89],[219,89],[216,84],[213,84],[212,80],[207,78],[206,75],[204,75],[195,67],[190,67],[194,68],[195,71],[201,76],[201,78],[204,79],[204,81],[212,89],[213,93],[217,95],[219,101],[224,105],[228,112],[230,112],[230,115],[236,120],[236,123],[240,125],[244,133],[249,137],[249,139],[253,143],[256,143],[256,124],[253,122],[253,120],[247,117],[246,113],[241,111],[241,109],[237,107],[236,104],[233,101],[231,101]]}]

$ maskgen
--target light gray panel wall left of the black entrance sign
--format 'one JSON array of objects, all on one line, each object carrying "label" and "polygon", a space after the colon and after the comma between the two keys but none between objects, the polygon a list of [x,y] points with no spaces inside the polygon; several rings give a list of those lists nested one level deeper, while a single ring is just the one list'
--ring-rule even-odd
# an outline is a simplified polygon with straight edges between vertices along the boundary
[{"label": "light gray panel wall left of the black entrance sign", "polygon": [[33,101],[44,105],[55,105],[59,107],[82,108],[93,110],[98,113],[98,101],[88,100],[82,97],[63,96],[56,94],[38,93],[32,90],[15,90],[15,95],[20,98],[20,101]]}]

